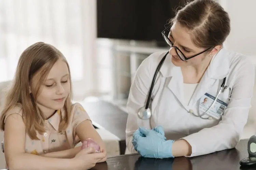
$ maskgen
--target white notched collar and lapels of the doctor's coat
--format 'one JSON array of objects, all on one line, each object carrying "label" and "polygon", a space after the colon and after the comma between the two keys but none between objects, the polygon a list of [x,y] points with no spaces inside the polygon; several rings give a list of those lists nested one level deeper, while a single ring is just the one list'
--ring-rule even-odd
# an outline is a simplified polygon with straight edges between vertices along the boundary
[{"label": "white notched collar and lapels of the doctor's coat", "polygon": [[[187,108],[184,103],[183,75],[181,68],[171,62],[170,54],[167,55],[160,72],[167,80],[168,88],[173,92],[180,103]],[[211,60],[209,67],[205,71],[198,84],[189,104],[195,103],[217,79],[223,79],[229,72],[229,57],[225,49],[221,49]]]}]

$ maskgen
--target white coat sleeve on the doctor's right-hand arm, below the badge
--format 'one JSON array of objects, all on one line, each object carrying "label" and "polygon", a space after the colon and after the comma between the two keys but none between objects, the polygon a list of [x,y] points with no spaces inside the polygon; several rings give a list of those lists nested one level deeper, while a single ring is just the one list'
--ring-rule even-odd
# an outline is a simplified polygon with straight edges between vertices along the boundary
[{"label": "white coat sleeve on the doctor's right-hand arm, below the badge", "polygon": [[249,60],[237,66],[236,80],[222,120],[211,128],[184,137],[192,147],[192,156],[236,147],[251,107],[255,71]]}]

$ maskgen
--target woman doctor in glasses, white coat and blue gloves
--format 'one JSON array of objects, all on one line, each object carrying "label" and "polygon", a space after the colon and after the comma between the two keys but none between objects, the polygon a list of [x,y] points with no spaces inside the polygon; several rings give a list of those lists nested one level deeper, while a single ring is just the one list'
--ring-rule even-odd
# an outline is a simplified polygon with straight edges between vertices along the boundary
[{"label": "woman doctor in glasses, white coat and blue gloves", "polygon": [[130,152],[192,157],[237,145],[251,107],[254,67],[223,48],[229,32],[229,16],[213,0],[195,0],[177,12],[162,32],[169,52],[147,57],[131,85]]}]

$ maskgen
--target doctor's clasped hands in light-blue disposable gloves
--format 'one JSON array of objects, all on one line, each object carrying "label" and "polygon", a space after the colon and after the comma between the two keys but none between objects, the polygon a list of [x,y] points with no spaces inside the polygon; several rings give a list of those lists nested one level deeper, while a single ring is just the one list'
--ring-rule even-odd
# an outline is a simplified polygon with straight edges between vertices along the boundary
[{"label": "doctor's clasped hands in light-blue disposable gloves", "polygon": [[152,130],[140,127],[133,133],[132,145],[143,157],[170,158],[172,155],[172,143],[174,140],[166,140],[162,126]]}]

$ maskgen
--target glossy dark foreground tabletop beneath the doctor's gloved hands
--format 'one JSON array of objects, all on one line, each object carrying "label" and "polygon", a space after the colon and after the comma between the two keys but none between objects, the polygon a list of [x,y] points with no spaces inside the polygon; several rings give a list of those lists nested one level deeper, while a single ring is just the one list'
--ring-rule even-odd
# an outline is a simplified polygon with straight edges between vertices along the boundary
[{"label": "glossy dark foreground tabletop beneath the doctor's gloved hands", "polygon": [[[239,161],[248,156],[248,140],[241,140],[237,147],[192,158],[174,159],[142,158],[138,154],[111,157],[98,163],[93,170],[240,170]],[[248,168],[247,170],[256,169]]]}]

